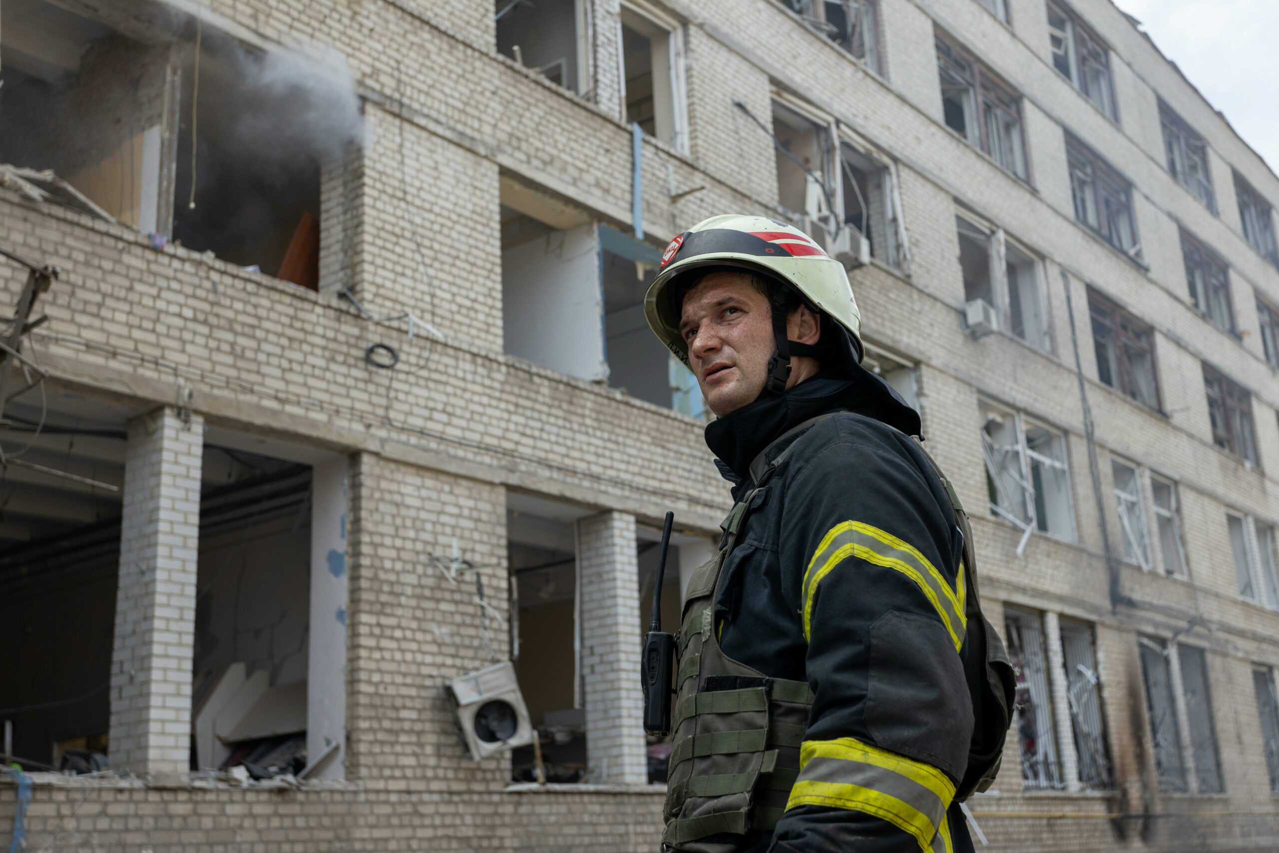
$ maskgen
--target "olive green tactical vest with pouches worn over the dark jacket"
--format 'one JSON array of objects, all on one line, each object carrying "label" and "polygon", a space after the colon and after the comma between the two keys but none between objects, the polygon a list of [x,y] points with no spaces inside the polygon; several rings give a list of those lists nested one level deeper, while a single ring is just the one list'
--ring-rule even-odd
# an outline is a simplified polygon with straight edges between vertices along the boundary
[{"label": "olive green tactical vest with pouches worn over the dark jacket", "polygon": [[[751,464],[755,483],[720,524],[719,554],[698,567],[688,582],[677,638],[675,707],[671,717],[671,752],[663,817],[665,849],[686,853],[733,853],[741,836],[753,830],[773,831],[785,811],[790,788],[799,775],[799,747],[808,728],[813,693],[807,682],[769,678],[733,660],[720,648],[715,629],[715,593],[729,554],[755,499],[785,462],[793,441],[771,460],[770,450],[797,432],[838,413],[828,413],[787,431]],[[973,572],[972,535],[967,514],[950,481],[931,457],[963,535],[963,570],[969,643],[985,659],[986,679],[969,685],[977,717],[968,771],[957,789],[957,801],[985,790],[999,771],[1004,734],[1010,723],[1013,671],[999,636],[981,615]],[[976,618],[975,618],[976,616]],[[973,634],[973,629],[977,634]],[[1001,712],[1001,714],[1000,714]],[[976,715],[975,715],[976,716]],[[711,836],[737,835],[729,841]]]}]

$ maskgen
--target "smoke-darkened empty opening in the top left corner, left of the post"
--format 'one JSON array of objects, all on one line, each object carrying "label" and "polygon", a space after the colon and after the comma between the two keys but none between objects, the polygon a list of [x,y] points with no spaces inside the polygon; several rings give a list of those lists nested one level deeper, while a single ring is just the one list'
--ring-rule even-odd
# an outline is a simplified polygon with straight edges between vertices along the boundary
[{"label": "smoke-darkened empty opening in the top left corner, left of the post", "polygon": [[[38,0],[5,0],[0,162],[52,173],[37,185],[82,211],[168,234],[179,50]],[[56,175],[56,178],[54,176]],[[35,175],[29,175],[35,179]],[[59,189],[65,180],[72,189]]]}]

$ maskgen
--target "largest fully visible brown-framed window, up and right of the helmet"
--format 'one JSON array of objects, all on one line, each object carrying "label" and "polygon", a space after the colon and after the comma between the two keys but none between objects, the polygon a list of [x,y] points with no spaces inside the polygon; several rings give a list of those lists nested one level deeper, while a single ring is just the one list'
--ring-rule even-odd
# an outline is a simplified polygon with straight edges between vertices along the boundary
[{"label": "largest fully visible brown-framed window, up and right of the helmet", "polygon": [[1024,180],[1021,96],[963,50],[940,40],[938,68],[946,127],[989,153],[1005,171]]}]

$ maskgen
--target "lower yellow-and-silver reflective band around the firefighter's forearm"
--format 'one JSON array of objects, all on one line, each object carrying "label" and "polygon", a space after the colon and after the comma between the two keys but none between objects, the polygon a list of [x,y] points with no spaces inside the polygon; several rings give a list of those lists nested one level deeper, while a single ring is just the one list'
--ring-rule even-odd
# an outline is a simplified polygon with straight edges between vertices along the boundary
[{"label": "lower yellow-and-silver reflective band around the firefighter's forearm", "polygon": [[946,808],[955,789],[940,770],[854,738],[806,740],[799,765],[787,810],[865,812],[912,835],[923,853],[953,853]]}]

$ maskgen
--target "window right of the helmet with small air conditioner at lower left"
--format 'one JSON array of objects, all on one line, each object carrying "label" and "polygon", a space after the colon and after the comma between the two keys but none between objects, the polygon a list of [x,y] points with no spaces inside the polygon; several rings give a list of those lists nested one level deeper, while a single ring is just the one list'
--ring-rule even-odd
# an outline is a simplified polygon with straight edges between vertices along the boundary
[{"label": "window right of the helmet with small air conditioner at lower left", "polygon": [[1040,278],[1044,265],[1003,229],[971,214],[957,216],[955,228],[964,302],[980,301],[986,306],[971,316],[994,317],[995,327],[1036,349],[1049,350],[1051,339]]}]

